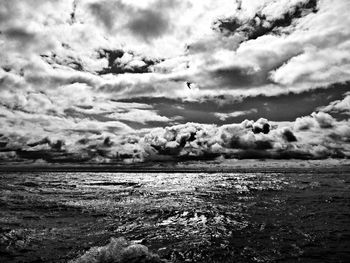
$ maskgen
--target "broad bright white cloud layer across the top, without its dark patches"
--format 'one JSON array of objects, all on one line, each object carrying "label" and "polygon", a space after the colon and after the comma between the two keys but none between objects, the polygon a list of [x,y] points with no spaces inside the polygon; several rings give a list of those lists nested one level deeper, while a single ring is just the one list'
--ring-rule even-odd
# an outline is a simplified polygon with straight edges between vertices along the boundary
[{"label": "broad bright white cloud layer across the top, without its dark patches", "polygon": [[[268,27],[308,1],[243,1],[241,10],[237,10],[237,3],[226,0],[181,3],[155,0],[142,4],[117,0],[78,1],[74,24],[69,23],[73,11],[71,1],[40,1],[36,9],[30,8],[30,2],[13,2],[12,5],[18,5],[18,8],[11,7],[7,1],[4,3],[2,5],[9,15],[4,16],[2,24],[10,28],[18,22],[16,28],[23,29],[22,35],[33,32],[34,38],[26,41],[31,48],[23,52],[11,42],[16,42],[16,37],[11,41],[2,37],[0,48],[11,50],[1,52],[2,64],[26,67],[29,71],[27,79],[39,86],[84,82],[99,92],[113,90],[124,97],[196,98],[211,93],[249,96],[300,92],[349,79],[349,32],[345,26],[349,18],[341,12],[348,8],[347,1],[319,1],[318,12],[303,13],[303,17],[284,29],[285,34],[262,35],[251,40],[239,32],[230,36],[215,32],[213,22],[218,18],[237,17],[240,23],[244,23],[258,13],[265,16]],[[97,8],[95,13],[91,6]],[[167,23],[171,24],[164,34],[140,41],[142,35],[124,32],[126,24],[134,23],[133,18],[137,20],[137,16],[130,14],[156,12],[152,9],[154,6],[159,7],[159,12],[164,11]],[[96,24],[96,17],[104,24],[110,24],[113,30],[105,31],[103,26]],[[97,56],[97,50],[102,48],[132,50],[140,56],[165,57],[165,60],[156,63],[152,67],[155,73],[148,76],[133,74],[101,78],[95,76],[95,72],[108,64],[105,58]],[[38,69],[34,73],[28,65],[33,59],[38,61],[36,56],[42,53],[55,55],[51,62],[56,64],[53,64],[54,69]],[[126,52],[118,61],[129,70],[144,67],[145,62],[140,56]],[[58,65],[59,61],[62,64],[79,62],[90,73],[72,71]],[[198,89],[187,91],[183,87],[185,81],[197,84]]]}]

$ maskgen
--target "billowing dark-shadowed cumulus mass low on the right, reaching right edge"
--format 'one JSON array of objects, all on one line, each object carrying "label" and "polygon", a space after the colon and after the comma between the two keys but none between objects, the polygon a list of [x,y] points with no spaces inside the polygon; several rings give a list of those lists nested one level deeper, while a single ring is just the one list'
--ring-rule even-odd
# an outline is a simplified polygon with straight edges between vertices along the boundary
[{"label": "billowing dark-shadowed cumulus mass low on the right, reaching right edge", "polygon": [[[180,160],[218,156],[302,159],[348,156],[347,145],[340,146],[339,141],[332,139],[335,138],[334,133],[342,134],[340,140],[346,137],[343,129],[330,129],[329,125],[336,121],[320,113],[310,118],[318,123],[318,127],[309,132],[294,128],[294,123],[269,123],[261,118],[256,122],[246,120],[223,126],[188,123],[156,129],[146,134],[139,143],[145,149],[146,160],[160,156]],[[345,122],[339,124],[346,125]]]}]

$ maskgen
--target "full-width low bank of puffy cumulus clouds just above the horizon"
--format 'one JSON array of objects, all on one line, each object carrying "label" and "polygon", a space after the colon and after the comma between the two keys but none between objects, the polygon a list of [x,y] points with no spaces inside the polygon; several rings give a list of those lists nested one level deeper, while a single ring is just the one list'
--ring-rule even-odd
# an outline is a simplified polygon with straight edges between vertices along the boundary
[{"label": "full-width low bank of puffy cumulus clouds just above the horizon", "polygon": [[[94,132],[93,125],[87,122],[81,127],[84,130],[77,126],[69,133],[57,133],[56,138],[34,139],[18,132],[3,134],[1,152],[15,154],[2,155],[2,158],[130,163],[218,157],[323,159],[350,156],[348,121],[336,121],[323,112],[286,123],[260,118],[255,122],[245,120],[223,126],[187,123],[129,132],[124,128],[122,134],[108,122],[104,132]],[[60,136],[66,140],[61,140]]]}]

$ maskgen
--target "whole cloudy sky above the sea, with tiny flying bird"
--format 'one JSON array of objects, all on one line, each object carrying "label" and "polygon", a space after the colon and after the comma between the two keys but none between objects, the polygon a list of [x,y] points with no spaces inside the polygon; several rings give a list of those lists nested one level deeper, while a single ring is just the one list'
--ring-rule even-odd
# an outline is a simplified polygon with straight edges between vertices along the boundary
[{"label": "whole cloudy sky above the sea, with tiny flying bird", "polygon": [[0,163],[350,157],[348,0],[2,0]]}]

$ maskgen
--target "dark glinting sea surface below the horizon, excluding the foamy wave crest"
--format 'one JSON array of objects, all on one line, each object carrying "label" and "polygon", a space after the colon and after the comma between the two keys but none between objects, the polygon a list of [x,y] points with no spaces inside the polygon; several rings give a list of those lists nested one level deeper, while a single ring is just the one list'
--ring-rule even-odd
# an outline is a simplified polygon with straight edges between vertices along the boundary
[{"label": "dark glinting sea surface below the horizon, excluding the foamy wave crest", "polygon": [[125,237],[172,262],[350,262],[349,175],[3,173],[0,261]]}]

